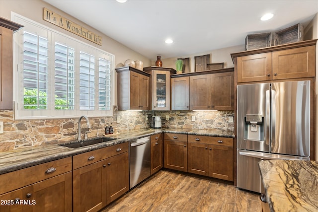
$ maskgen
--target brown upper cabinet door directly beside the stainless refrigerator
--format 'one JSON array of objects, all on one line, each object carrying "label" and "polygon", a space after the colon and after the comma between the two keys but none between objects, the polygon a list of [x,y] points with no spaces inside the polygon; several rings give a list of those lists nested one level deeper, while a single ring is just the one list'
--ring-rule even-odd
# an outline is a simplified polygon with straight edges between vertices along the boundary
[{"label": "brown upper cabinet door directly beside the stainless refrigerator", "polygon": [[234,110],[234,72],[211,74],[211,109]]}]

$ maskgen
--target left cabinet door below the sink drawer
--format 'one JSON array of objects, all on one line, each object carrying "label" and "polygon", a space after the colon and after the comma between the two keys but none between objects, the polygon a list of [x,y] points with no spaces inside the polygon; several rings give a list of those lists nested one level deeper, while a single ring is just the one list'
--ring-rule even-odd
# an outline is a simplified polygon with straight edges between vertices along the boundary
[{"label": "left cabinet door below the sink drawer", "polygon": [[73,211],[97,212],[106,206],[106,160],[73,170]]}]

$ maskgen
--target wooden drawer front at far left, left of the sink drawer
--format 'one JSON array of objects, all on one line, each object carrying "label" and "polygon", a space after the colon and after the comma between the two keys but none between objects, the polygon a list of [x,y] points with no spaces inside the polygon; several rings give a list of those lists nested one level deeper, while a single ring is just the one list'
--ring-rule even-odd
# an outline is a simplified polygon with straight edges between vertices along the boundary
[{"label": "wooden drawer front at far left, left of the sink drawer", "polygon": [[72,157],[0,175],[0,194],[72,171]]}]

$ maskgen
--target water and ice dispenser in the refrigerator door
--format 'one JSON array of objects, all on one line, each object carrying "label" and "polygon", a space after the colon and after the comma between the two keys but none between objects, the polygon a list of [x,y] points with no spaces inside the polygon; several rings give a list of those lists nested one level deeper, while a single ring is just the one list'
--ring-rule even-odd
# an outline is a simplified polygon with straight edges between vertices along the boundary
[{"label": "water and ice dispenser in the refrigerator door", "polygon": [[264,117],[246,114],[244,117],[244,139],[264,141]]}]

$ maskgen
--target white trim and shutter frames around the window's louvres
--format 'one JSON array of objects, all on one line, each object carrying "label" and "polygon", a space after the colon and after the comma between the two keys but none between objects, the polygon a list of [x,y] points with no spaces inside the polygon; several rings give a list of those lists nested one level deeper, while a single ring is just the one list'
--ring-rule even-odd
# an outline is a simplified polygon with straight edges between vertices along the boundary
[{"label": "white trim and shutter frames around the window's louvres", "polygon": [[[21,16],[17,13],[11,12],[11,20],[21,23],[28,22],[32,25],[35,25],[36,27],[40,27],[43,30],[48,31],[48,39],[49,39],[49,61],[48,61],[48,69],[50,70],[48,72],[48,100],[47,102],[50,102],[48,104],[48,110],[23,110],[23,95],[19,95],[19,92],[23,92],[23,77],[21,77],[21,71],[23,72],[23,60],[21,57],[23,55],[19,50],[21,50],[21,45],[23,46],[21,39],[20,39],[20,33],[23,32],[23,29],[13,34],[13,105],[14,105],[14,119],[15,120],[27,120],[27,119],[67,119],[67,118],[78,118],[79,116],[86,115],[88,117],[110,117],[113,116],[113,105],[115,103],[115,56],[109,52],[106,52],[102,49],[99,49],[95,46],[92,46],[86,42],[80,41],[75,37],[69,36],[64,34],[63,32],[54,30],[48,26],[45,26],[43,24],[40,24],[36,21],[33,21],[29,18],[26,18],[24,16]],[[71,39],[72,41],[76,42],[76,55],[79,55],[80,51],[84,51],[85,48],[90,49],[90,53],[94,52],[95,56],[95,109],[94,110],[79,110],[79,105],[77,103],[79,102],[79,84],[77,83],[75,89],[76,89],[76,108],[75,110],[55,110],[55,103],[54,103],[54,45],[55,42],[59,42],[59,39],[55,39],[55,35],[58,35],[58,37],[62,36],[66,39]],[[53,44],[52,44],[53,43]],[[78,45],[85,48],[78,48]],[[53,49],[52,49],[53,48]],[[110,66],[110,110],[99,110],[99,95],[98,95],[98,74],[99,74],[99,58],[101,56],[107,56],[109,57],[109,61],[111,63]],[[22,61],[22,63],[21,63]],[[76,61],[79,66],[79,60]],[[79,71],[79,70],[76,70]],[[77,73],[77,76],[79,77],[79,74]],[[22,78],[22,81],[21,81]],[[78,81],[79,79],[77,79]],[[22,87],[22,88],[21,88]],[[22,104],[19,104],[19,102],[22,102]],[[71,112],[72,111],[72,112]],[[45,112],[45,113],[43,113]]]}]

